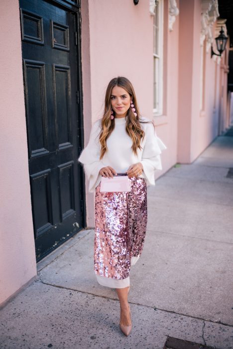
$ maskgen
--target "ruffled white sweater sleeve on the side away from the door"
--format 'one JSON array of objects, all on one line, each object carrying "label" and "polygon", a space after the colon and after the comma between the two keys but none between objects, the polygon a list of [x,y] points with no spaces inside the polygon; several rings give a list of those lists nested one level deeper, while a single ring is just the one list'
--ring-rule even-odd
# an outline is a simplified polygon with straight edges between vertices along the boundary
[{"label": "ruffled white sweater sleeve on the side away from the door", "polygon": [[154,185],[155,170],[162,170],[160,154],[167,147],[157,137],[153,124],[148,124],[146,129],[146,141],[142,152],[140,163],[143,166],[143,173],[148,185]]}]

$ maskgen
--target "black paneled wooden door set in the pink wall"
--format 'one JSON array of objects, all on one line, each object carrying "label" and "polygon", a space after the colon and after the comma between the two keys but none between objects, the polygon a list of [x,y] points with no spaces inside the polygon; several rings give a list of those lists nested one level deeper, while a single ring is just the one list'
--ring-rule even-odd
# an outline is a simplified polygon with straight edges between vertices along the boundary
[{"label": "black paneled wooden door set in the pink wall", "polygon": [[19,5],[38,261],[84,226],[77,163],[82,136],[79,13],[69,0],[20,0]]}]

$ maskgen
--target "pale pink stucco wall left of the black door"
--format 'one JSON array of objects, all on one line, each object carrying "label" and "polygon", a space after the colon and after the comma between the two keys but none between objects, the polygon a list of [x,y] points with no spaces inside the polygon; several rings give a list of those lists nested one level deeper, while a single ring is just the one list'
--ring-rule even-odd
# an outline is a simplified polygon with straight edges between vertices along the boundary
[{"label": "pale pink stucco wall left of the black door", "polygon": [[0,1],[0,42],[1,304],[36,275],[18,0]]}]

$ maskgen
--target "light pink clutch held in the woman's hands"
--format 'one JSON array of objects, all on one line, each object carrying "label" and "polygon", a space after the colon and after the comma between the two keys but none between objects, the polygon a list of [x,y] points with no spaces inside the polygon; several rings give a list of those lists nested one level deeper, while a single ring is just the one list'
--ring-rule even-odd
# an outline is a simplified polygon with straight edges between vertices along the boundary
[{"label": "light pink clutch held in the woman's hands", "polygon": [[130,191],[131,186],[127,175],[116,175],[113,178],[101,178],[100,191],[114,192],[114,191]]}]

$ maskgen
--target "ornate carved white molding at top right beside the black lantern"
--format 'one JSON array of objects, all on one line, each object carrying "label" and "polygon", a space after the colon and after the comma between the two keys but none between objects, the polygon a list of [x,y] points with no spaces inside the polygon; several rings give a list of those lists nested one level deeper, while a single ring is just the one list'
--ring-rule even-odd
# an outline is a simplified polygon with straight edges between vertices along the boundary
[{"label": "ornate carved white molding at top right beside the black lantern", "polygon": [[201,36],[200,44],[203,46],[203,42],[206,38],[206,53],[209,52],[213,43],[213,24],[219,17],[219,5],[218,0],[201,0]]}]

